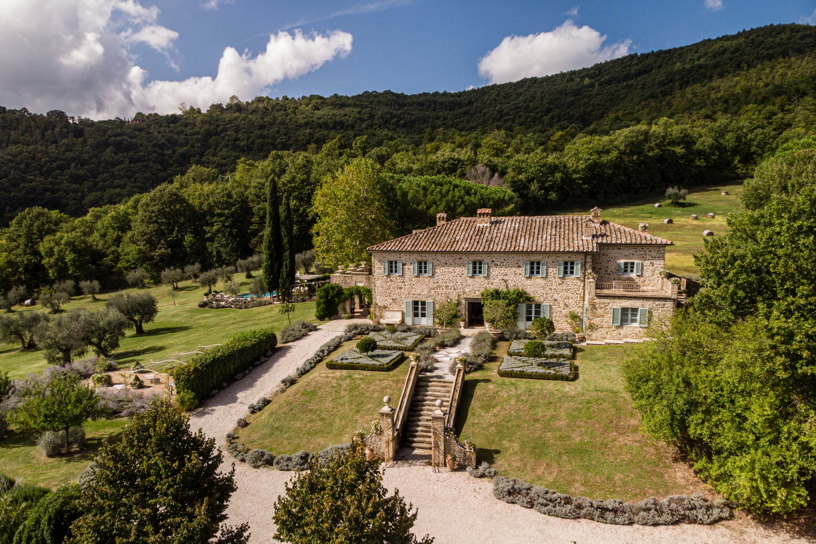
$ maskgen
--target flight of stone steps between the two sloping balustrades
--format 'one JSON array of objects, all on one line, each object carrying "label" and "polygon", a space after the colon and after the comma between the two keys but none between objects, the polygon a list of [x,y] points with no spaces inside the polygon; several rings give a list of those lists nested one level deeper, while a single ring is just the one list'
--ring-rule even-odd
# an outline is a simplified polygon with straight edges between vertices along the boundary
[{"label": "flight of stone steps between the two sloping balustrades", "polygon": [[452,379],[419,374],[401,434],[402,446],[430,451],[431,414],[437,410],[437,400],[442,401],[442,411],[447,413],[453,387]]}]

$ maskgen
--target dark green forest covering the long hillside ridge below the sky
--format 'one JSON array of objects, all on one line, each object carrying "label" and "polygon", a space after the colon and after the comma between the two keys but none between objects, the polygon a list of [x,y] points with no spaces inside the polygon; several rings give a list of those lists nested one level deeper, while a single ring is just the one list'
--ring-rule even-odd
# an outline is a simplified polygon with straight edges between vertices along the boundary
[{"label": "dark green forest covering the long hillside ridge below the sky", "polygon": [[[486,164],[525,213],[740,178],[809,134],[814,50],[816,28],[770,25],[458,93],[257,97],[135,123],[0,108],[0,225],[31,206],[84,215],[189,166],[226,175],[242,158],[316,156],[327,143],[393,174],[463,177]],[[602,138],[618,130],[630,132]]]}]

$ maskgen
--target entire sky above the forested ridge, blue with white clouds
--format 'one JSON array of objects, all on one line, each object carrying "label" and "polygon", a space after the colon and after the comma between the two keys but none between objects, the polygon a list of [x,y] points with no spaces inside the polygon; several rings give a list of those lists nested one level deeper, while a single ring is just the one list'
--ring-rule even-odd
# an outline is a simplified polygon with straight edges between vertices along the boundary
[{"label": "entire sky above the forested ridge, blue with white clouds", "polygon": [[231,95],[462,91],[816,23],[816,0],[0,0],[0,105],[95,119]]}]

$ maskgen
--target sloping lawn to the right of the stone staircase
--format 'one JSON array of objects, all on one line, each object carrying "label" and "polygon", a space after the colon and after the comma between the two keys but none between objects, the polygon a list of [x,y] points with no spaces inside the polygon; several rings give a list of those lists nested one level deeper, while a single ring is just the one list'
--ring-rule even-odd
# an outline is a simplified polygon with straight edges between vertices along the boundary
[{"label": "sloping lawn to the right of the stone staircase", "polygon": [[460,440],[476,443],[479,462],[589,498],[641,500],[700,489],[680,483],[671,450],[638,431],[620,373],[636,346],[579,349],[575,382],[499,378],[507,348],[499,343],[497,360],[465,379],[456,429]]}]

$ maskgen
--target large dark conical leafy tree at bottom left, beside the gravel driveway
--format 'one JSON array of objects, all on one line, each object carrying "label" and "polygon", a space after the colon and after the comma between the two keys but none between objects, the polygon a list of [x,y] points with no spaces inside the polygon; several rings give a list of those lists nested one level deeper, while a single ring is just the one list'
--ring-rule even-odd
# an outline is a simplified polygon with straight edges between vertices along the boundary
[{"label": "large dark conical leafy tree at bottom left, beside the gravel driveway", "polygon": [[79,500],[70,544],[245,544],[249,526],[224,523],[235,469],[219,471],[215,440],[190,432],[166,400],[137,414],[122,440],[106,444]]}]

